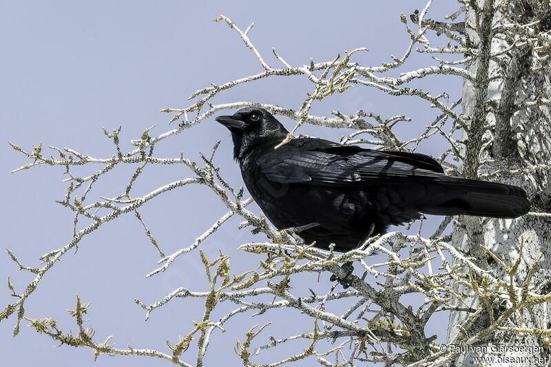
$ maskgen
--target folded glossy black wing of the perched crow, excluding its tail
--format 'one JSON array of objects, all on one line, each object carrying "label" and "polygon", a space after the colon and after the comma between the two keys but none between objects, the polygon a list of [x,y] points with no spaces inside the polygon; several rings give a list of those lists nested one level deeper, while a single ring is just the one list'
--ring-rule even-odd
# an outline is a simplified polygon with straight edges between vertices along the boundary
[{"label": "folded glossy black wing of the perched crow, excluding its tail", "polygon": [[320,186],[370,186],[391,181],[447,177],[428,155],[371,151],[302,138],[264,153],[260,170],[271,181]]}]

